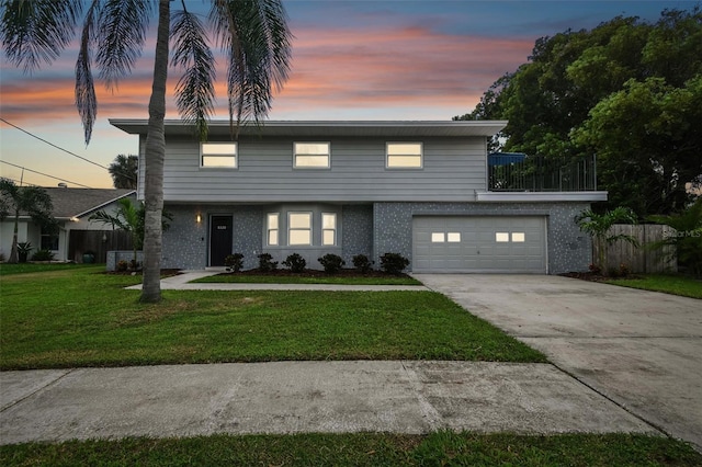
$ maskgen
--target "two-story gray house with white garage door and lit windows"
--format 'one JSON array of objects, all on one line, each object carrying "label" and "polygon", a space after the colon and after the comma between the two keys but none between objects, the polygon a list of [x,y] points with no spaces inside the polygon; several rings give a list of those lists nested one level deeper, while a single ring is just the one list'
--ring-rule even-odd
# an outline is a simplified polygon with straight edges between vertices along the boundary
[{"label": "two-story gray house with white garage door and lit windows", "polygon": [[[147,121],[110,122],[139,135],[144,158]],[[192,126],[166,121],[163,200],[173,220],[162,266],[220,266],[242,253],[249,269],[264,252],[276,261],[299,253],[316,269],[326,253],[347,266],[365,254],[378,266],[393,252],[414,272],[587,270],[591,243],[574,218],[607,200],[593,167],[556,171],[556,185],[514,178],[529,158],[488,163],[487,138],[506,123],[265,122],[233,141],[228,122],[212,122],[208,141],[197,143]],[[516,180],[498,180],[507,169]]]}]

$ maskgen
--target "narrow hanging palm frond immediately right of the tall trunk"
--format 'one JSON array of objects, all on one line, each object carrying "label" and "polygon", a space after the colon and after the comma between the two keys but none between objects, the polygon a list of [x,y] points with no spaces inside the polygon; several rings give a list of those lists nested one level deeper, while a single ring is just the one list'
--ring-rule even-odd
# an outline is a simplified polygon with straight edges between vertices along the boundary
[{"label": "narrow hanging palm frond immediately right of the tall trunk", "polygon": [[201,140],[207,138],[207,119],[214,113],[215,59],[197,16],[188,11],[173,15],[171,65],[184,72],[176,86],[176,102],[183,121],[192,123]]}]

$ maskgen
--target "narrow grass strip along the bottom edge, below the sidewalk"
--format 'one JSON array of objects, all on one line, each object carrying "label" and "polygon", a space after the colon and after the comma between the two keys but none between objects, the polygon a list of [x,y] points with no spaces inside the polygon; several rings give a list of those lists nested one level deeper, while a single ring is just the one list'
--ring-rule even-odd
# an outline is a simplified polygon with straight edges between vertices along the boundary
[{"label": "narrow grass strip along the bottom edge, below the sidewalk", "polygon": [[4,466],[699,466],[702,455],[666,437],[410,434],[212,435],[0,446]]}]

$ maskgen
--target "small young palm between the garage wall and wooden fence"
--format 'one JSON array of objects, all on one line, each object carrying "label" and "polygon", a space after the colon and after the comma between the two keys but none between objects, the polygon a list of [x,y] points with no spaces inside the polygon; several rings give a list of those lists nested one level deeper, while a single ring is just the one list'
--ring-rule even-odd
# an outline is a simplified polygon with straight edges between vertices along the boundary
[{"label": "small young palm between the garage wall and wooden fence", "polygon": [[603,214],[586,209],[576,218],[580,230],[592,237],[592,240],[598,244],[599,254],[596,265],[602,271],[602,274],[607,274],[607,247],[620,240],[638,247],[638,241],[634,237],[626,234],[612,235],[610,229],[614,224],[636,224],[636,214],[632,209],[622,206]]}]

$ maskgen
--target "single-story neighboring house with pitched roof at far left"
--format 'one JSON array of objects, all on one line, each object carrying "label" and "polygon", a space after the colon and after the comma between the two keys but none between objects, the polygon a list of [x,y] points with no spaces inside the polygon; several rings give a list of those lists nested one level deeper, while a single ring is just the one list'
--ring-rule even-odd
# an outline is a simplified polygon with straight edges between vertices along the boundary
[{"label": "single-story neighboring house with pitched roof at far left", "polygon": [[[122,244],[111,244],[117,241],[117,237],[112,235],[110,226],[91,223],[88,218],[97,210],[114,212],[120,198],[125,196],[136,198],[134,190],[68,187],[44,187],[44,190],[52,197],[53,215],[58,220],[59,230],[55,235],[44,232],[30,216],[20,213],[18,241],[31,242],[32,252],[52,250],[56,261],[80,262],[83,252],[91,250],[98,253],[95,261],[104,262],[105,259],[101,257],[104,257],[103,251],[106,249],[126,248]],[[5,259],[10,257],[13,228],[14,214],[10,214],[0,223],[0,251]]]}]

